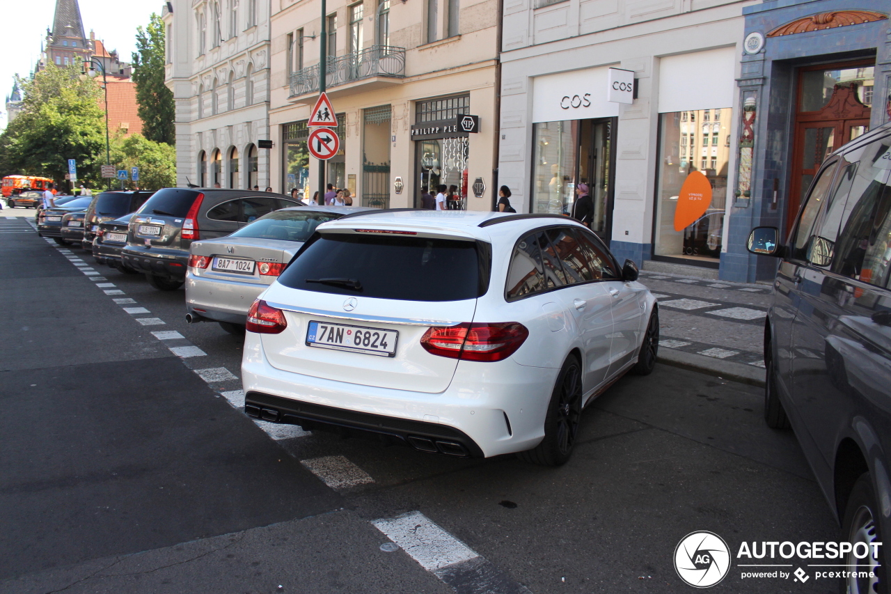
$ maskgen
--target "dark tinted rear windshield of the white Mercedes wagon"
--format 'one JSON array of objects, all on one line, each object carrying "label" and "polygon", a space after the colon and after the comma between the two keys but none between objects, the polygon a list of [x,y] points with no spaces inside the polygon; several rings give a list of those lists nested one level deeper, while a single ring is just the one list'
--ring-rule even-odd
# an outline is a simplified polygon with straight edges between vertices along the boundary
[{"label": "dark tinted rear windshield of the white Mercedes wagon", "polygon": [[326,234],[307,244],[279,282],[316,293],[461,301],[486,293],[488,257],[487,250],[470,241]]}]

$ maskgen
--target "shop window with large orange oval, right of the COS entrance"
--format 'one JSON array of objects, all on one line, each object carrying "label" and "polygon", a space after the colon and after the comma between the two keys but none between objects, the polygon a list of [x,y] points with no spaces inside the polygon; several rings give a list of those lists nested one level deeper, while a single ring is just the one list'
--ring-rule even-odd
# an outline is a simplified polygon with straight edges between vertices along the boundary
[{"label": "shop window with large orange oval, right of the COS entrance", "polygon": [[[697,114],[700,121],[707,121],[707,112],[709,116],[714,114],[716,117],[721,112],[727,116],[730,113],[726,111],[728,109],[686,113],[690,121],[696,121]],[[661,118],[654,258],[683,258],[691,263],[711,262],[711,265],[715,265],[723,243],[730,149],[714,144],[718,137],[714,134],[717,124],[711,123],[708,130],[711,134],[703,135],[701,158],[678,162],[671,158],[672,139],[676,143],[676,138],[680,136],[679,126],[674,124],[674,113],[663,113]],[[719,133],[729,134],[729,129],[722,127],[720,130]],[[712,137],[710,150],[709,136]],[[681,192],[684,182],[693,185],[691,191]]]}]

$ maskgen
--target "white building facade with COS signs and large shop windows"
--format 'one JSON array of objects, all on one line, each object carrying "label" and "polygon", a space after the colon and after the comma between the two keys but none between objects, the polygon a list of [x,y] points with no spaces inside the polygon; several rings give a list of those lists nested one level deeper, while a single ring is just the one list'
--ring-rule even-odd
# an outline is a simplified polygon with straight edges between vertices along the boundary
[{"label": "white building facade with COS signs and large shop windows", "polygon": [[[571,213],[584,184],[619,261],[716,278],[750,4],[505,0],[498,166],[517,209]],[[609,101],[610,68],[633,71],[633,103]]]}]

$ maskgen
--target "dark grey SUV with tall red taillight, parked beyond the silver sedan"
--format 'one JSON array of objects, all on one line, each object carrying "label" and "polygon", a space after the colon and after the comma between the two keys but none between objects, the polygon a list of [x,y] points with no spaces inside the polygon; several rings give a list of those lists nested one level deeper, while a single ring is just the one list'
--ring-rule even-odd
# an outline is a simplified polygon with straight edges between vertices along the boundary
[{"label": "dark grey SUV with tall red taillight, parked beyond the silver sedan", "polygon": [[298,202],[271,192],[164,188],[130,219],[121,263],[145,273],[156,289],[175,291],[184,283],[193,241],[229,235],[288,206],[298,206]]}]

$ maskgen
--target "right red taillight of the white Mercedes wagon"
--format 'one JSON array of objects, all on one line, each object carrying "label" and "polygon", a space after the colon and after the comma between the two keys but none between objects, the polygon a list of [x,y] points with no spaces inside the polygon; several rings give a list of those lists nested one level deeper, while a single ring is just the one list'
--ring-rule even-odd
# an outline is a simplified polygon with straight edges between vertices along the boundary
[{"label": "right red taillight of the white Mercedes wagon", "polygon": [[518,322],[469,323],[433,326],[421,336],[421,346],[432,355],[465,361],[501,361],[519,349],[529,336]]}]

